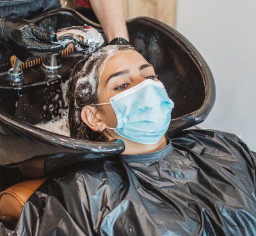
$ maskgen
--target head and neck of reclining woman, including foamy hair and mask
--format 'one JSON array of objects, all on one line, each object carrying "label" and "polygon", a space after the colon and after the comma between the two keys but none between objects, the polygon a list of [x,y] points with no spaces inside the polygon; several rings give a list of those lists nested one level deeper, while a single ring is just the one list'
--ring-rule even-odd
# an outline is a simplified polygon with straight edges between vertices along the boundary
[{"label": "head and neck of reclining woman, including foamy hair and mask", "polygon": [[123,154],[163,149],[173,101],[152,64],[129,45],[109,45],[77,64],[67,93],[70,135],[125,142]]}]

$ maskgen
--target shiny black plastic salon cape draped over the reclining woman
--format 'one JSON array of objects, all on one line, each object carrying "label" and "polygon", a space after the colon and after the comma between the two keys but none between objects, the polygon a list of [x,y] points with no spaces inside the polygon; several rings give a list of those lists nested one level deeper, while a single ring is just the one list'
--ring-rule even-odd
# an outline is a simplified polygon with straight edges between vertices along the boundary
[{"label": "shiny black plastic salon cape draped over the reclining woman", "polygon": [[29,198],[14,231],[2,221],[2,235],[256,235],[256,161],[246,144],[211,129],[171,142],[157,158],[62,168]]}]

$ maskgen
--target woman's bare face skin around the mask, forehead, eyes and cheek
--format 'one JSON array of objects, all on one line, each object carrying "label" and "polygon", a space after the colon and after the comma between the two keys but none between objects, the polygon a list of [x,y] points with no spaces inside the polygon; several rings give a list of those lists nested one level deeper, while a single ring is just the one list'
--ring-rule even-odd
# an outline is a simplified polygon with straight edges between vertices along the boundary
[{"label": "woman's bare face skin around the mask, forehead, eyes and cheek", "polygon": [[[118,52],[106,63],[102,70],[98,85],[99,103],[107,103],[111,97],[147,79],[159,81],[156,78],[153,66],[141,54],[134,50]],[[113,108],[110,104],[100,105],[100,108],[103,113],[98,110],[97,118],[102,121],[101,128],[104,129],[104,135],[107,132],[106,136],[108,138],[120,138],[113,130],[105,129],[107,126],[110,128],[116,127],[117,121]],[[96,111],[94,110],[94,112]],[[81,117],[83,121],[88,121],[88,119],[84,119],[86,117],[83,117],[83,113],[82,110]],[[89,115],[88,112],[87,115]],[[97,131],[97,127],[95,126],[93,130]]]}]

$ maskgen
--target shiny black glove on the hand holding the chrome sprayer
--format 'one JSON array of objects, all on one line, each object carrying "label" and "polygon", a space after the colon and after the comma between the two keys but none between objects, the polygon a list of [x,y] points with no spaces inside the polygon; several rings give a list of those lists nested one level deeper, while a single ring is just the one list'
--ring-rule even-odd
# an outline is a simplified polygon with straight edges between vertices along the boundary
[{"label": "shiny black glove on the hand holding the chrome sprayer", "polygon": [[0,40],[5,42],[20,61],[63,50],[63,45],[51,42],[54,38],[55,33],[40,29],[28,20],[0,18]]}]

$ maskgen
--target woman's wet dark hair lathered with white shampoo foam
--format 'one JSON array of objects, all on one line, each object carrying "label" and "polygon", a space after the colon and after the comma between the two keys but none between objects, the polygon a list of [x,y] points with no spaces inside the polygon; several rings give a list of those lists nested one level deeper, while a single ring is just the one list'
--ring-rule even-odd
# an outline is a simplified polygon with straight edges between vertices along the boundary
[{"label": "woman's wet dark hair lathered with white shampoo foam", "polygon": [[[91,141],[108,141],[102,133],[90,129],[81,119],[81,110],[85,105],[98,103],[97,87],[104,64],[120,51],[135,50],[131,45],[108,45],[100,48],[87,60],[76,64],[70,74],[67,102],[69,107],[68,123],[70,136]],[[100,68],[100,66],[102,67]],[[97,107],[100,110],[100,106]],[[103,111],[100,110],[102,113]]]}]

